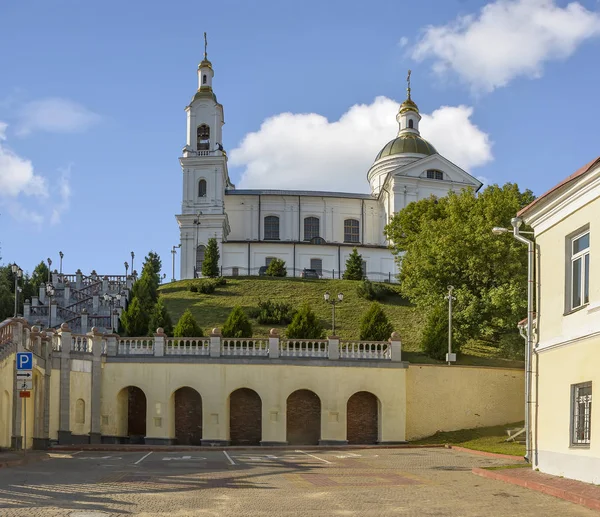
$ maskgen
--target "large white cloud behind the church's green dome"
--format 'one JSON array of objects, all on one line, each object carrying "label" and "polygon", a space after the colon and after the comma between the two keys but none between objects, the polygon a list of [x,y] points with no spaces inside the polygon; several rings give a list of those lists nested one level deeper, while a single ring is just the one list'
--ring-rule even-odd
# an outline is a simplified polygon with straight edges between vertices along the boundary
[{"label": "large white cloud behind the church's green dome", "polygon": [[[369,192],[367,171],[398,132],[398,103],[377,97],[339,120],[316,113],[281,113],[247,134],[231,152],[243,168],[240,188]],[[423,115],[421,134],[438,152],[469,170],[491,161],[491,142],[470,120],[472,108],[444,106]]]}]

